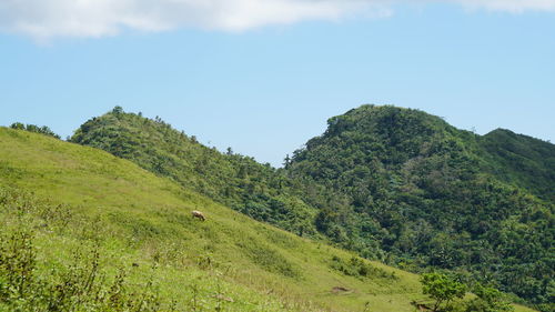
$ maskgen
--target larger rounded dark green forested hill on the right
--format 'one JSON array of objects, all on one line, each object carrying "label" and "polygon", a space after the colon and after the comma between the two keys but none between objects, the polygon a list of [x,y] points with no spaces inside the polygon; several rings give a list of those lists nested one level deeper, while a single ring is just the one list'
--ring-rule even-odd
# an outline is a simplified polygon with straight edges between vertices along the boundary
[{"label": "larger rounded dark green forested hill on the right", "polygon": [[[339,194],[315,220],[335,241],[495,281],[551,311],[554,157],[553,144],[509,131],[481,137],[422,111],[363,105],[331,118],[287,172]],[[322,207],[322,193],[305,194]]]}]

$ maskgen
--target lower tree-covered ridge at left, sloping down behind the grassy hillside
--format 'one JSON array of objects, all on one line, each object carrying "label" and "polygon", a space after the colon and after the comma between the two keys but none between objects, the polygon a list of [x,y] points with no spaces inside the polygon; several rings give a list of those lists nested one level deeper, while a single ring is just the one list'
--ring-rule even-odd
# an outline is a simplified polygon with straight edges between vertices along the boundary
[{"label": "lower tree-covered ridge at left, sloping down behind the grassy hillside", "polygon": [[256,220],[316,234],[314,210],[294,195],[284,174],[231,149],[224,154],[206,148],[158,117],[151,120],[117,107],[87,121],[70,140],[129,159]]}]

